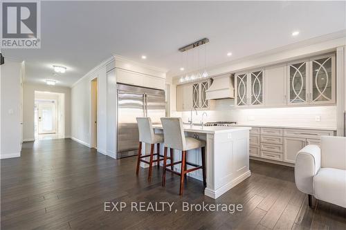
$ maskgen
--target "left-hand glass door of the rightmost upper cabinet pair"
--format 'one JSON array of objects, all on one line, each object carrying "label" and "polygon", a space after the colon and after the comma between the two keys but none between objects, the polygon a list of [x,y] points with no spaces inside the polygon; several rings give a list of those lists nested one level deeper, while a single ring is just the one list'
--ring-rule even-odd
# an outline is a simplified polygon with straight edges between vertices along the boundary
[{"label": "left-hand glass door of the rightmost upper cabinet pair", "polygon": [[288,95],[290,104],[307,103],[307,62],[291,64],[289,69]]}]

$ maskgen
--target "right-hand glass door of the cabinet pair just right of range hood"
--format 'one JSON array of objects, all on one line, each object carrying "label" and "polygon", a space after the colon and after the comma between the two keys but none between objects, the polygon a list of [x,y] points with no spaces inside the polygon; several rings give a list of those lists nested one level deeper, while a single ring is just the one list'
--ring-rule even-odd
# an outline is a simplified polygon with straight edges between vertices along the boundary
[{"label": "right-hand glass door of the cabinet pair just right of range hood", "polygon": [[263,72],[250,73],[251,77],[251,105],[263,104]]}]

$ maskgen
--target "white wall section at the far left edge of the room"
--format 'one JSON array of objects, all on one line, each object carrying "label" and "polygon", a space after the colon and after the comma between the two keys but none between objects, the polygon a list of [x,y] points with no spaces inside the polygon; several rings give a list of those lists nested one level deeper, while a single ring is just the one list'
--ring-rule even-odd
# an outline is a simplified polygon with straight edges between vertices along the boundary
[{"label": "white wall section at the far left edge of the room", "polygon": [[21,61],[6,59],[0,66],[1,159],[19,157],[21,151]]}]

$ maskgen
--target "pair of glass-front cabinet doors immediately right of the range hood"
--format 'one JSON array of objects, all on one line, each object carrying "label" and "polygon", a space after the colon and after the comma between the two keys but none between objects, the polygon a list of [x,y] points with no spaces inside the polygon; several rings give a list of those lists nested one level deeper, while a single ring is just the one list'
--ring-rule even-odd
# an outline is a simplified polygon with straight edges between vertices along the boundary
[{"label": "pair of glass-front cabinet doors immediately right of the range hood", "polygon": [[264,104],[263,70],[235,75],[235,86],[237,106],[261,106]]}]

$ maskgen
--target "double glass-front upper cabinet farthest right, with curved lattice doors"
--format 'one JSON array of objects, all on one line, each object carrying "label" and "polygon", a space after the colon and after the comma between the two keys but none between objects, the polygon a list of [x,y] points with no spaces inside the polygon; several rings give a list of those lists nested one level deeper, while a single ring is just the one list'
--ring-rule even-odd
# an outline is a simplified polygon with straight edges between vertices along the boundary
[{"label": "double glass-front upper cabinet farthest right, with curved lattice doors", "polygon": [[335,104],[335,55],[287,65],[287,104]]}]

